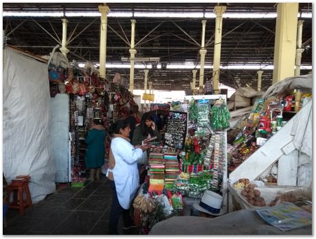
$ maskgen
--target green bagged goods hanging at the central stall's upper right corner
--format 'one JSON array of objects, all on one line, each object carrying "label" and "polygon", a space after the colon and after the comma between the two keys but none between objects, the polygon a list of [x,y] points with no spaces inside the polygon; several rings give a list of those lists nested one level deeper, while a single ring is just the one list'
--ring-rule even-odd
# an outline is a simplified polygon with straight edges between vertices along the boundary
[{"label": "green bagged goods hanging at the central stall's upper right corner", "polygon": [[211,126],[214,130],[229,128],[230,113],[224,100],[216,100],[212,107]]}]

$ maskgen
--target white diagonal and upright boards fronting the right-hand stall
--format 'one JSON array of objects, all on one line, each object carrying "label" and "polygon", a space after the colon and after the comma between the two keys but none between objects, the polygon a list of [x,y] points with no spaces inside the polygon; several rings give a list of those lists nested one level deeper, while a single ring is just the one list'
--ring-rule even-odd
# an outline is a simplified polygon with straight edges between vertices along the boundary
[{"label": "white diagonal and upright boards fronting the right-hand stall", "polygon": [[233,197],[242,208],[247,202],[233,184],[239,179],[256,181],[275,163],[278,163],[278,182],[276,185],[260,187],[275,196],[278,192],[304,188],[311,190],[311,152],[312,152],[312,102],[308,102],[289,122],[285,124],[262,147],[229,174],[229,212],[232,212]]}]

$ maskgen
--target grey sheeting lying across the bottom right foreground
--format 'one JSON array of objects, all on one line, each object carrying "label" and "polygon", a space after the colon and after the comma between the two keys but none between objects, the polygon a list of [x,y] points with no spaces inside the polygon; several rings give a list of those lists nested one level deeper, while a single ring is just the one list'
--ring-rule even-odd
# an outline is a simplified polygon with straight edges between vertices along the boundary
[{"label": "grey sheeting lying across the bottom right foreground", "polygon": [[242,209],[217,218],[173,216],[155,224],[149,235],[312,235],[312,226],[280,231],[255,209]]}]

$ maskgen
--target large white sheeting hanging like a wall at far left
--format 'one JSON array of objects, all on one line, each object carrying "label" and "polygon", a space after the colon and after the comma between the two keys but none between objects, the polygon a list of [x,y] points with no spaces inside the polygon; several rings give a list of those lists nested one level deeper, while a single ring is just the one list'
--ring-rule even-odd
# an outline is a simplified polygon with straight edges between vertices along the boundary
[{"label": "large white sheeting hanging like a wall at far left", "polygon": [[8,182],[29,174],[34,203],[56,190],[49,140],[47,65],[13,49],[4,50],[3,173]]}]

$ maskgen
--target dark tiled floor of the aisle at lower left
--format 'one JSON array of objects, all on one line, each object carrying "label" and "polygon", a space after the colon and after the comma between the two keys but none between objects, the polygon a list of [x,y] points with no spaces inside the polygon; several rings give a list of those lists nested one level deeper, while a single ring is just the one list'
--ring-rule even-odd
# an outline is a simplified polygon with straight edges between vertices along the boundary
[{"label": "dark tiled floor of the aisle at lower left", "polygon": [[[84,187],[59,187],[45,200],[26,208],[9,209],[3,235],[106,235],[112,190],[106,177]],[[122,217],[118,226],[122,231]],[[128,234],[137,234],[137,231]]]}]

